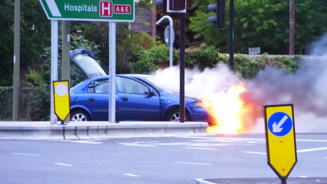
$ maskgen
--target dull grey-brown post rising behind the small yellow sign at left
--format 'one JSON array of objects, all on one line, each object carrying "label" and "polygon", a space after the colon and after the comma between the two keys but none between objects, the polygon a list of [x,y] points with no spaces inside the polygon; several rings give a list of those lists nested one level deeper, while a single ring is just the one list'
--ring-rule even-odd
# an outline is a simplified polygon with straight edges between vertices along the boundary
[{"label": "dull grey-brown post rising behind the small yellow sign at left", "polygon": [[[61,80],[67,80],[68,84],[71,82],[71,55],[69,53],[71,41],[71,21],[62,21],[62,57],[61,57]],[[64,120],[64,123],[69,123],[69,114]]]}]

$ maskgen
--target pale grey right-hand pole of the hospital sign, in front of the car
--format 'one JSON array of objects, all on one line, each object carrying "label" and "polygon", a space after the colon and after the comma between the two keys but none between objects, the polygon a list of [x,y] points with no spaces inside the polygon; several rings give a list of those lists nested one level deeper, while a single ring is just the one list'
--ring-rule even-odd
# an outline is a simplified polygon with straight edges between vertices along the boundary
[{"label": "pale grey right-hand pole of the hospital sign, in front of the car", "polygon": [[115,123],[116,113],[116,22],[109,22],[109,123]]}]

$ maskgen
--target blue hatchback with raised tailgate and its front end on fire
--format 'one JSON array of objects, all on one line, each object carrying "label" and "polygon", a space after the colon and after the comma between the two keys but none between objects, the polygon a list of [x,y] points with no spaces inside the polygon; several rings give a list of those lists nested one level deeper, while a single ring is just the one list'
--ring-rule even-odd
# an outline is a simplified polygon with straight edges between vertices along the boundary
[{"label": "blue hatchback with raised tailgate and its front end on fire", "polygon": [[[108,121],[109,76],[93,53],[71,51],[73,62],[88,79],[72,87],[71,121]],[[178,121],[179,96],[156,85],[152,75],[116,75],[116,121]],[[185,97],[185,121],[209,122],[196,98]]]}]

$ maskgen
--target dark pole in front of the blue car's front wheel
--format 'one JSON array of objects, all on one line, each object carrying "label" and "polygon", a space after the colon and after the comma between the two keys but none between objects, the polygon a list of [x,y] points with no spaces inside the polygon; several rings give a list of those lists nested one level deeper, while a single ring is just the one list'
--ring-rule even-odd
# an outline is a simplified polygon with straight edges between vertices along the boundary
[{"label": "dark pole in front of the blue car's front wheel", "polygon": [[185,120],[185,13],[180,13],[180,41],[179,41],[179,122]]}]

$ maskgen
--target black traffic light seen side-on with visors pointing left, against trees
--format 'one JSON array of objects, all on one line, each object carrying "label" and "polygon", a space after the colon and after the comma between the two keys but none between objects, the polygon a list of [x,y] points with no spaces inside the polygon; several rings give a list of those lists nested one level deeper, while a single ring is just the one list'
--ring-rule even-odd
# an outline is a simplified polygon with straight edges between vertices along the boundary
[{"label": "black traffic light seen side-on with visors pointing left, against trees", "polygon": [[216,16],[209,17],[209,22],[216,24],[217,28],[224,28],[226,26],[226,0],[216,0],[216,5],[209,5],[208,10],[216,12]]}]

